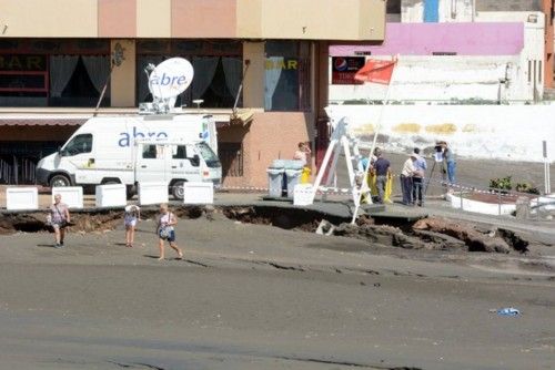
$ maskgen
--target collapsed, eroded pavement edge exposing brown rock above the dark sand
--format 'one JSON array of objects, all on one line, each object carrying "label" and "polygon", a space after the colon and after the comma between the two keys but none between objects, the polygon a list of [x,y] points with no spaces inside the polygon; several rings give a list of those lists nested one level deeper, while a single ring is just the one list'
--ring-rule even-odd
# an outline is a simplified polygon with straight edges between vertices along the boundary
[{"label": "collapsed, eroded pavement edge exposing brown rock above the dark sand", "polygon": [[[504,228],[488,228],[470,223],[443,218],[420,220],[398,219],[380,224],[372,217],[361,216],[356,225],[347,219],[317,210],[282,208],[275,206],[193,206],[175,207],[180,218],[231,219],[248,224],[271,225],[283,229],[344,236],[367,240],[376,245],[394,246],[406,249],[461,249],[468,251],[511,253],[527,251],[528,240],[517,233]],[[155,208],[143,208],[142,218],[154,219]],[[72,213],[72,229],[82,233],[113,229],[121,225],[120,209],[89,209]],[[48,232],[47,214],[3,213],[0,214],[0,234],[17,232]]]}]

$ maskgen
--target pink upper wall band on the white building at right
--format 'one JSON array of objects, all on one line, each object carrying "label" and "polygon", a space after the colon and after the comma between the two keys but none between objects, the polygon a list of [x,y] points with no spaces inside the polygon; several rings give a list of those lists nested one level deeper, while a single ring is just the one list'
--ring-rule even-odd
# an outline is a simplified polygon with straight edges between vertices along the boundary
[{"label": "pink upper wall band on the white building at right", "polygon": [[383,44],[333,45],[330,55],[516,55],[523,48],[523,23],[387,23]]}]

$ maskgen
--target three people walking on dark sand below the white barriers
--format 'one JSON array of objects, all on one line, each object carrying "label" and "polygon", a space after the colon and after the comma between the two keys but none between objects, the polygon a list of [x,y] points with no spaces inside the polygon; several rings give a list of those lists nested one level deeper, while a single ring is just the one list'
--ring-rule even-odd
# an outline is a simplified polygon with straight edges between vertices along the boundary
[{"label": "three people walking on dark sand below the white barriers", "polygon": [[[61,202],[60,194],[54,195],[54,203],[50,206],[50,214],[47,222],[54,230],[54,248],[63,248],[68,226],[71,224],[71,215],[67,204]],[[125,246],[133,247],[134,234],[138,222],[141,220],[141,208],[137,205],[128,205],[123,214],[123,225],[125,227]],[[178,217],[170,212],[168,204],[160,205],[160,214],[157,223],[158,248],[160,251],[159,260],[164,259],[164,244],[168,241],[170,247],[178,254],[178,259],[183,258],[183,251],[175,243],[175,228]]]}]

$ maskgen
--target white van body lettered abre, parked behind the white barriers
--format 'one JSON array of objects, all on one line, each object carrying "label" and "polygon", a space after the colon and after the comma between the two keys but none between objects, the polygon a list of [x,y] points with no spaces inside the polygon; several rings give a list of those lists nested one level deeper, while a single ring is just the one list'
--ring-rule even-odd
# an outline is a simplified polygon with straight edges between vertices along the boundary
[{"label": "white van body lettered abre, parked behind the white barriers", "polygon": [[167,182],[183,198],[184,182],[220,185],[218,137],[211,115],[169,114],[92,117],[37,166],[46,186],[83,187]]}]

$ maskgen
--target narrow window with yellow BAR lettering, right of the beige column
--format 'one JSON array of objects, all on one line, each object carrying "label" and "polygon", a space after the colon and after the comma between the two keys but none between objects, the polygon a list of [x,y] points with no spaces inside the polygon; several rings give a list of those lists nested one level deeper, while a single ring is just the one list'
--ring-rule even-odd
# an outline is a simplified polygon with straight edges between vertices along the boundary
[{"label": "narrow window with yellow BAR lettering, right of the beige column", "polygon": [[266,41],[264,109],[306,111],[310,109],[310,43]]}]

